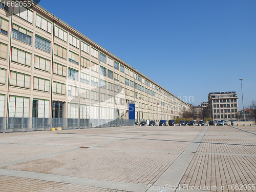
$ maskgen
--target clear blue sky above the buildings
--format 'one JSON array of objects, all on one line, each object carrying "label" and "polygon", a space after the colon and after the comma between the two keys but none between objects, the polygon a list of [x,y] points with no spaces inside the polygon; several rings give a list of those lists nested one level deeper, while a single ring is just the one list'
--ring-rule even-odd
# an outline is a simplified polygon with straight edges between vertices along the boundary
[{"label": "clear blue sky above the buildings", "polygon": [[[255,0],[49,1],[40,6],[176,96],[256,100]],[[155,69],[157,67],[157,70]]]}]

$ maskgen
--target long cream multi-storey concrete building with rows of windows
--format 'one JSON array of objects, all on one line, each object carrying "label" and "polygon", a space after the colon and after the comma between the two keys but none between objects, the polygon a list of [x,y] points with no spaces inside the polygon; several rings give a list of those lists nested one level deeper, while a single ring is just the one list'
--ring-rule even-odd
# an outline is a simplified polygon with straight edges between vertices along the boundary
[{"label": "long cream multi-storey concrete building with rows of windows", "polygon": [[[0,8],[0,117],[181,117],[190,106],[39,5]],[[131,55],[132,56],[132,55]]]}]

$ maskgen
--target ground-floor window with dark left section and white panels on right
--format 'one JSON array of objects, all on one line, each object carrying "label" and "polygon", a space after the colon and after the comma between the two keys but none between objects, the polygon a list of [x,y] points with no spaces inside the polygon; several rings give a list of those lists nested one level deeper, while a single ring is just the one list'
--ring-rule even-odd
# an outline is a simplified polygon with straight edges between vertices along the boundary
[{"label": "ground-floor window with dark left section and white panels on right", "polygon": [[49,118],[49,100],[33,99],[33,118]]}]

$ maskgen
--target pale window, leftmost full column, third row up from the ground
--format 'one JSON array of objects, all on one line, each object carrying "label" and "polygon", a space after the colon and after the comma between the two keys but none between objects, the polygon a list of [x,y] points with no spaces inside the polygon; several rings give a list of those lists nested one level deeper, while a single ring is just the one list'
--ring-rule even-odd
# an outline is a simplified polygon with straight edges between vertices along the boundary
[{"label": "pale window, leftmost full column, third row up from the ground", "polygon": [[[1,44],[2,46],[2,44]],[[31,53],[12,47],[12,62],[31,66]]]}]

